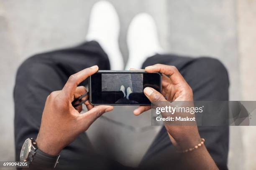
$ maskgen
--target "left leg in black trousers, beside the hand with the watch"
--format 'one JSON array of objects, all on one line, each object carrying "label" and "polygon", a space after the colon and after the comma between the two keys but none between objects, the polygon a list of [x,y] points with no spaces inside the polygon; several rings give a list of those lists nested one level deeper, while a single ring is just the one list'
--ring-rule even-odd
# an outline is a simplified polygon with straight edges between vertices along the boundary
[{"label": "left leg in black trousers, beside the hand with the watch", "polygon": [[[101,70],[110,69],[108,56],[95,41],[38,54],[23,62],[14,88],[16,160],[19,160],[26,138],[37,137],[46,97],[52,91],[61,90],[70,75],[92,65],[98,65]],[[86,81],[81,83],[85,84]],[[85,133],[64,148],[60,155],[57,168],[75,168],[82,163],[89,169],[95,166],[101,169],[113,163],[94,153]]]}]

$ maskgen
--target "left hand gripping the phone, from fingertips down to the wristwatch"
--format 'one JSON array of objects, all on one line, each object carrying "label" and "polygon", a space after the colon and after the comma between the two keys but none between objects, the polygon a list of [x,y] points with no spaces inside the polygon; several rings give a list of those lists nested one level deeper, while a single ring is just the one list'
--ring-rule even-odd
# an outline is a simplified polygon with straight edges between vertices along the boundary
[{"label": "left hand gripping the phone, from fingertips down to the wristwatch", "polygon": [[72,106],[74,98],[87,92],[85,87],[77,85],[97,70],[95,65],[71,75],[62,90],[51,92],[47,97],[36,139],[38,148],[44,153],[58,155],[104,112],[113,110],[113,106],[108,105],[94,107],[88,100],[85,102],[88,111],[83,114],[79,113],[82,105],[77,108]]}]

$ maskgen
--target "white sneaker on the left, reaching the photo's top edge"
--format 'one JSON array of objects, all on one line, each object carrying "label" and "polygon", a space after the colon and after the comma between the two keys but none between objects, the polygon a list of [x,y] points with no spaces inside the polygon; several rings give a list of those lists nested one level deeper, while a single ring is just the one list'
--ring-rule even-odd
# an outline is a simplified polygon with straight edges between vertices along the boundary
[{"label": "white sneaker on the left, reaching the photo's top edge", "polygon": [[107,53],[111,70],[123,70],[123,57],[118,45],[120,22],[113,5],[99,1],[92,7],[87,41],[95,40]]}]

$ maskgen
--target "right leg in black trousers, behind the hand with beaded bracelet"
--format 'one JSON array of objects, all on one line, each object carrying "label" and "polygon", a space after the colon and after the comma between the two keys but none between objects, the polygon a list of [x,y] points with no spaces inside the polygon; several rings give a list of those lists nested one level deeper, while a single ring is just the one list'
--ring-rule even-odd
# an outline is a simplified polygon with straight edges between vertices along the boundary
[{"label": "right leg in black trousers, behind the hand with beaded bracelet", "polygon": [[[143,68],[156,63],[176,66],[192,88],[194,100],[228,100],[228,73],[220,61],[209,57],[155,55],[144,62]],[[215,163],[220,169],[227,169],[229,127],[199,126],[198,130],[201,138],[206,139],[206,148]],[[149,169],[162,166],[179,167],[179,158],[164,127],[141,161],[141,167]]]}]

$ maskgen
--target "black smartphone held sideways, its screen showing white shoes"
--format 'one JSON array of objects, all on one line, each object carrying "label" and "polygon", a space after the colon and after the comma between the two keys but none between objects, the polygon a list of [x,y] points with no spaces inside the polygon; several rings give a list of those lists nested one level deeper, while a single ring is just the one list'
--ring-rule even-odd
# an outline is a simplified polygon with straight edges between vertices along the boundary
[{"label": "black smartphone held sideways, its screen showing white shoes", "polygon": [[145,87],[161,92],[159,72],[99,70],[89,78],[92,105],[151,105]]}]

